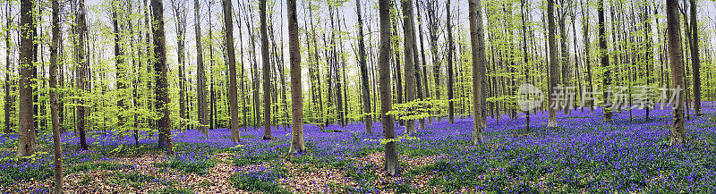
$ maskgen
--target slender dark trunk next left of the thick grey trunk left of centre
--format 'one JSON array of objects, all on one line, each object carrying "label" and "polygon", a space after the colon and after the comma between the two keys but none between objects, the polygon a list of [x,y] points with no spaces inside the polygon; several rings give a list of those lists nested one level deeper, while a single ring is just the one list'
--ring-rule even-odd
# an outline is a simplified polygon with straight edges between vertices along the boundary
[{"label": "slender dark trunk next left of the thick grey trunk left of centre", "polygon": [[[266,27],[266,0],[260,0],[261,68],[263,75],[263,139],[271,139],[271,64],[268,54],[268,35]],[[234,95],[235,96],[235,95]]]}]

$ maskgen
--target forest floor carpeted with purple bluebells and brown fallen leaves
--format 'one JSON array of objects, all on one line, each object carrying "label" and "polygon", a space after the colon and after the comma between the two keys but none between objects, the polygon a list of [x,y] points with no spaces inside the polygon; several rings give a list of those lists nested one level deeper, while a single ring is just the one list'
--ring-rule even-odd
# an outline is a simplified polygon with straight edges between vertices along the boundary
[{"label": "forest floor carpeted with purple bluebells and brown fallen leaves", "polygon": [[[90,132],[90,150],[64,134],[64,190],[67,193],[705,193],[716,190],[716,110],[686,122],[688,146],[669,146],[670,110],[615,113],[602,122],[601,110],[558,114],[547,129],[546,114],[489,119],[482,146],[471,144],[472,120],[434,121],[417,134],[396,128],[399,176],[381,170],[380,125],[366,134],[360,123],[321,130],[305,126],[307,152],[286,154],[290,129],[175,131],[175,155],[156,139],[134,144],[132,132]],[[334,132],[345,131],[345,132]],[[141,137],[148,137],[141,132]],[[0,193],[47,193],[52,189],[52,146],[38,138],[38,153],[14,157],[16,136],[0,138]]]}]

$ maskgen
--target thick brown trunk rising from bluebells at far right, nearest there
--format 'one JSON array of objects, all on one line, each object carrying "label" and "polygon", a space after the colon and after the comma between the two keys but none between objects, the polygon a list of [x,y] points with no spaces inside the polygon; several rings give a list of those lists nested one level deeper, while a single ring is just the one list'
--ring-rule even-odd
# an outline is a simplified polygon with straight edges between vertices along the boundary
[{"label": "thick brown trunk rising from bluebells at far right, nearest there", "polygon": [[678,92],[674,102],[674,122],[671,128],[671,146],[684,146],[686,144],[686,129],[684,128],[684,62],[681,55],[681,24],[678,19],[677,0],[666,1],[667,34],[669,36],[669,60],[671,67],[671,81],[674,83],[674,92]]}]

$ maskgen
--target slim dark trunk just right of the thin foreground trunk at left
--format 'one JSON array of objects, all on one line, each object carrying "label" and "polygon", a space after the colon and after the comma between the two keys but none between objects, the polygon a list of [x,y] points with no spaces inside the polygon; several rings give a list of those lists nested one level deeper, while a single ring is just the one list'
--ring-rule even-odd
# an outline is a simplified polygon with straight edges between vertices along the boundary
[{"label": "slim dark trunk just right of the thin foreground trunk at left", "polygon": [[77,49],[77,67],[75,70],[77,71],[77,89],[78,91],[78,104],[76,106],[76,116],[77,116],[77,131],[80,131],[80,149],[88,149],[87,145],[87,135],[85,134],[85,116],[87,115],[85,113],[85,105],[84,105],[84,99],[82,97],[82,94],[87,92],[85,76],[87,74],[86,68],[87,68],[87,54],[84,50],[84,40],[85,35],[87,34],[87,24],[85,23],[85,5],[84,0],[79,1],[79,11],[76,18],[76,27],[75,30],[75,36],[77,38],[77,45],[75,45],[75,49]]}]

